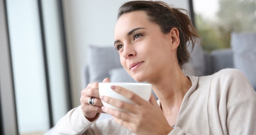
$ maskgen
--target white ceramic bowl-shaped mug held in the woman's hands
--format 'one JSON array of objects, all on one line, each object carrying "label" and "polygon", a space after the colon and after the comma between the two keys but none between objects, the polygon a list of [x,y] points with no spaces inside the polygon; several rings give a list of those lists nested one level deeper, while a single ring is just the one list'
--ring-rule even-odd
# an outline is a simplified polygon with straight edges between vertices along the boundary
[{"label": "white ceramic bowl-shaped mug held in the woman's hands", "polygon": [[[121,101],[131,103],[132,101],[125,98],[121,94],[118,94],[117,92],[113,91],[110,87],[112,85],[121,86],[129,91],[132,91],[133,93],[139,95],[141,98],[143,98],[146,101],[149,101],[150,95],[152,92],[152,85],[148,83],[126,83],[126,82],[101,82],[99,83],[99,94],[100,96],[109,96],[115,99],[119,99]],[[120,110],[119,108],[113,107],[112,105],[105,103],[102,101],[103,105],[106,107],[114,108],[117,110]]]}]

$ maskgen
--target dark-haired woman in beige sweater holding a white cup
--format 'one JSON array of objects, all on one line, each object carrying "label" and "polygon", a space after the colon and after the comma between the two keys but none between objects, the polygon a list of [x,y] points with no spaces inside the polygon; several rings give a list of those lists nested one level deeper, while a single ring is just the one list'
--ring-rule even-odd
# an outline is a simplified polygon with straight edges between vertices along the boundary
[{"label": "dark-haired woman in beige sweater holding a white cup", "polygon": [[[121,64],[136,81],[151,83],[158,101],[118,86],[111,88],[135,105],[99,97],[98,83],[90,83],[81,92],[81,105],[59,120],[55,134],[255,134],[256,94],[240,71],[203,77],[181,71],[190,59],[187,42],[194,47],[198,37],[182,11],[152,1],[127,2],[119,9],[114,45]],[[125,111],[103,107],[101,100]],[[113,119],[97,121],[101,113]]]}]

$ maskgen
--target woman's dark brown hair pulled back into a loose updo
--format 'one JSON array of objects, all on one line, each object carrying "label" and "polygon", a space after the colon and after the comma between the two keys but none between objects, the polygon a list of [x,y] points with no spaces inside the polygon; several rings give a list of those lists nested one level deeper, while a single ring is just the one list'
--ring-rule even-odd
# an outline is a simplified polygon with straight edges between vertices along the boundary
[{"label": "woman's dark brown hair pulled back into a loose updo", "polygon": [[[188,17],[189,12],[185,9],[172,8],[161,1],[138,0],[124,3],[119,8],[117,19],[125,13],[138,10],[145,11],[148,15],[148,19],[159,25],[164,34],[168,34],[172,28],[179,30],[180,43],[177,48],[177,59],[179,66],[182,68],[182,66],[190,60],[187,42],[190,44],[191,41],[193,50],[196,39],[199,37]],[[182,11],[185,11],[186,14]]]}]

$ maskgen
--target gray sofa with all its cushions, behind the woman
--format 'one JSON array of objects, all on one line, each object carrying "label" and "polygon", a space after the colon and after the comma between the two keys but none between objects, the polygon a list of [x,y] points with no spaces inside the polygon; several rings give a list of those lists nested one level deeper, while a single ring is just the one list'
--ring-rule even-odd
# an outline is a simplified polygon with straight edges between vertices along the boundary
[{"label": "gray sofa with all its cushions, behind the woman", "polygon": [[[188,46],[191,52],[191,47]],[[88,63],[82,73],[84,87],[89,82],[101,82],[109,77],[111,82],[135,82],[123,69],[114,46],[88,48]],[[232,33],[231,48],[206,52],[199,44],[191,52],[191,61],[185,64],[185,75],[206,76],[224,69],[236,68],[247,76],[256,90],[256,33]]]}]

